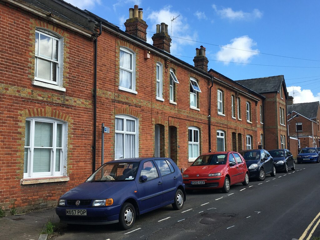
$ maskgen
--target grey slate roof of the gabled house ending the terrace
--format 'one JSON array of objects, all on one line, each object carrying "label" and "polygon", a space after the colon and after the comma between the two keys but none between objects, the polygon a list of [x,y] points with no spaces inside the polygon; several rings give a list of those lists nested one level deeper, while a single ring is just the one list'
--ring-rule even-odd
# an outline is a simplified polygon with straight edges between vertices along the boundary
[{"label": "grey slate roof of the gabled house ending the terrace", "polygon": [[252,79],[237,80],[236,82],[250,88],[254,92],[267,93],[267,92],[278,92],[280,86],[284,81],[284,76],[271,76],[271,77],[260,77]]}]

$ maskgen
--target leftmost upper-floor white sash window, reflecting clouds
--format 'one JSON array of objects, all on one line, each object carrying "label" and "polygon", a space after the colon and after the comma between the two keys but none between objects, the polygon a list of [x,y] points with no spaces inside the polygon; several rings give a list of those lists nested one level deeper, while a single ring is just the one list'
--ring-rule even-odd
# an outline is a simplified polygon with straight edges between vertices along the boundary
[{"label": "leftmost upper-floor white sash window, reflecting clouds", "polygon": [[36,30],[35,38],[35,80],[60,85],[61,40],[58,36],[45,30]]}]

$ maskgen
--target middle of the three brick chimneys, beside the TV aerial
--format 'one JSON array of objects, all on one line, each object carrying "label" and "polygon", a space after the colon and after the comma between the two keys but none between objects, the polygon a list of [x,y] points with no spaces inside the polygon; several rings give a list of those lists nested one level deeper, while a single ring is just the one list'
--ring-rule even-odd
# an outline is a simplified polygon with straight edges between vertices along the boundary
[{"label": "middle of the three brick chimneys, beside the TV aerial", "polygon": [[[160,29],[161,28],[161,29]],[[168,25],[164,22],[157,24],[156,33],[152,36],[153,45],[170,53],[171,38],[168,34]]]}]

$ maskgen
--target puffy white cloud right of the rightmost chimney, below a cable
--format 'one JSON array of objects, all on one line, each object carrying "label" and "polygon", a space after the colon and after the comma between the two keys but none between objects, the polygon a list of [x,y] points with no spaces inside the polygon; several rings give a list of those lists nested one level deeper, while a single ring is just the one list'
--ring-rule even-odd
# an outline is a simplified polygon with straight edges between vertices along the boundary
[{"label": "puffy white cloud right of the rightmost chimney, below a cable", "polygon": [[256,45],[257,43],[248,36],[234,38],[231,40],[231,44],[221,47],[220,51],[216,54],[217,60],[226,61],[226,65],[228,65],[228,62],[248,63],[250,58],[259,52],[258,49],[253,49]]}]

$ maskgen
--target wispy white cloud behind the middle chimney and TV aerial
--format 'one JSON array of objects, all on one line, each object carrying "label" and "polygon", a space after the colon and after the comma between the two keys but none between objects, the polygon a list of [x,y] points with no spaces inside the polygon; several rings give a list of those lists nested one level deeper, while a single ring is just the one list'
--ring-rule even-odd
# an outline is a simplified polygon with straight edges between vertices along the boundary
[{"label": "wispy white cloud behind the middle chimney and TV aerial", "polygon": [[[161,24],[164,22],[168,25],[168,34],[172,38],[172,44],[170,47],[170,53],[172,55],[179,55],[183,51],[184,46],[193,45],[193,42],[190,42],[186,39],[197,39],[197,32],[194,29],[190,29],[187,19],[181,15],[180,12],[172,11],[171,6],[165,6],[159,11],[149,11],[146,19],[148,19],[148,31],[156,32],[156,24]],[[180,16],[179,16],[180,15]],[[179,16],[179,17],[178,17]],[[171,29],[171,20],[175,17],[176,19],[172,23]],[[172,30],[172,32],[171,32]],[[148,32],[147,34],[147,42],[152,44],[151,37],[153,33]],[[177,38],[178,37],[178,38]]]}]

